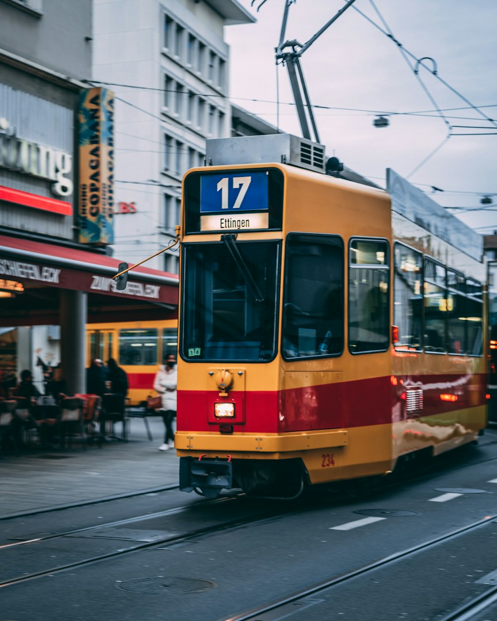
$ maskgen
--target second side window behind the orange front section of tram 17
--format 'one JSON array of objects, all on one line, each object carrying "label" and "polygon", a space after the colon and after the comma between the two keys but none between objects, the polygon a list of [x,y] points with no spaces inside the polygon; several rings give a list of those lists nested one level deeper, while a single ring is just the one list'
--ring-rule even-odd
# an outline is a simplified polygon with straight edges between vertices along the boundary
[{"label": "second side window behind the orange front section of tram 17", "polygon": [[445,267],[427,258],[424,262],[424,350],[428,353],[446,353],[446,317]]}]

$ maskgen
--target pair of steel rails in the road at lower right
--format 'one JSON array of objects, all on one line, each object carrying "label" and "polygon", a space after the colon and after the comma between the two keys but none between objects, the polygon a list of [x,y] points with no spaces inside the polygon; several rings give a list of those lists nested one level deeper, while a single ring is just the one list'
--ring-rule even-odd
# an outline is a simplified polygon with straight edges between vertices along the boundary
[{"label": "pair of steel rails in the road at lower right", "polygon": [[[496,520],[497,514],[488,515],[482,520],[473,522],[473,524],[457,528],[450,533],[440,535],[440,537],[436,537],[427,542],[412,546],[406,550],[385,556],[378,561],[361,568],[354,569],[353,571],[337,576],[336,578],[331,578],[320,582],[319,584],[315,584],[314,586],[307,587],[306,589],[303,589],[303,591],[296,592],[278,601],[273,601],[270,604],[246,610],[245,612],[238,614],[230,614],[226,617],[223,616],[217,619],[217,621],[280,621],[280,619],[284,619],[290,615],[298,615],[299,610],[305,610],[309,606],[320,604],[322,600],[312,598],[316,596],[322,597],[327,590],[337,589],[340,586],[344,586],[345,584],[352,582],[354,579],[367,577],[369,574],[372,574],[378,569],[386,568],[387,566],[395,563],[400,563],[401,561],[406,560],[410,556],[417,553],[429,551],[440,545],[440,543],[449,542],[450,540],[460,537],[461,535],[474,532],[476,529]],[[478,596],[468,600],[444,617],[439,617],[437,621],[470,621],[470,619],[473,619],[475,615],[480,614],[480,612],[483,612],[496,602],[497,586],[494,586]],[[298,606],[298,609],[294,606]],[[296,617],[296,621],[298,621],[298,616]]]}]

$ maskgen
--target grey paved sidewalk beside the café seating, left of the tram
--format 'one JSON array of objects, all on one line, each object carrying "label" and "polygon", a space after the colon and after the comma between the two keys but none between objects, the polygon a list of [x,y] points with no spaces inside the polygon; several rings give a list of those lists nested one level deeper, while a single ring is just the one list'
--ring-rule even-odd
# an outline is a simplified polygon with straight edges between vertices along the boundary
[{"label": "grey paved sidewalk beside the caf\u00e9 seating, left of the tram", "polygon": [[163,421],[152,417],[148,424],[152,442],[144,421],[130,419],[129,442],[106,442],[86,451],[79,443],[63,451],[33,448],[6,456],[0,460],[0,517],[177,484],[176,451],[158,450]]}]

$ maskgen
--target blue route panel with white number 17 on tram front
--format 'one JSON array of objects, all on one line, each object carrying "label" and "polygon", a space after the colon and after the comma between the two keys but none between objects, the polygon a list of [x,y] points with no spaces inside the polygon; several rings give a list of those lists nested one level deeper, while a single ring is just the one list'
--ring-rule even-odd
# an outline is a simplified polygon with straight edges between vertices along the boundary
[{"label": "blue route panel with white number 17 on tram front", "polygon": [[232,212],[235,214],[236,212],[267,210],[267,171],[247,174],[247,172],[240,170],[237,173],[201,176],[201,213]]}]

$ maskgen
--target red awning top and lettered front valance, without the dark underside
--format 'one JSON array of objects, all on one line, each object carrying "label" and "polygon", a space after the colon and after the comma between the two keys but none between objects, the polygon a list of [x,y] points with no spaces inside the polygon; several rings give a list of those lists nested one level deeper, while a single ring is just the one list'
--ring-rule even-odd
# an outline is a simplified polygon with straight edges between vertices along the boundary
[{"label": "red awning top and lettered front valance, without the dark underside", "polygon": [[120,261],[87,250],[0,235],[0,278],[123,299],[178,304],[178,276],[140,266],[117,291]]}]

